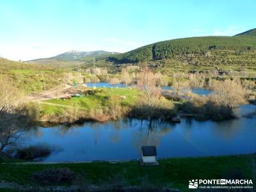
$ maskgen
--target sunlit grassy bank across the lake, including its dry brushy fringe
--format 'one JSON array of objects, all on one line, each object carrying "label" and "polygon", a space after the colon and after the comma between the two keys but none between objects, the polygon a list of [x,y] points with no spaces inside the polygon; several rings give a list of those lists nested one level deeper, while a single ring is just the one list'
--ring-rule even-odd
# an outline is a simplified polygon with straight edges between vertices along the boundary
[{"label": "sunlit grassy bank across the lake, including its dry brushy fringe", "polygon": [[115,120],[141,99],[141,92],[133,88],[99,88],[88,92],[83,97],[40,102],[41,120],[53,123]]}]

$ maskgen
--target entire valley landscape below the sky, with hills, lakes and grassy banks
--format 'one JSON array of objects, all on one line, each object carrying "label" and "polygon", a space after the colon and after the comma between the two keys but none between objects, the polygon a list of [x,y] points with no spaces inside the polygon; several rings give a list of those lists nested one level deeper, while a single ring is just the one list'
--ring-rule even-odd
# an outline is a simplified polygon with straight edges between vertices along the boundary
[{"label": "entire valley landscape below the sky, with hills, lakes and grassy banks", "polygon": [[[37,189],[32,173],[68,168],[90,179],[89,188],[111,184],[110,172],[142,186],[141,175],[156,172],[146,182],[187,191],[191,167],[200,177],[223,177],[234,167],[252,175],[255,31],[179,38],[125,53],[0,58],[0,179]],[[143,145],[157,147],[158,168],[136,161]]]}]

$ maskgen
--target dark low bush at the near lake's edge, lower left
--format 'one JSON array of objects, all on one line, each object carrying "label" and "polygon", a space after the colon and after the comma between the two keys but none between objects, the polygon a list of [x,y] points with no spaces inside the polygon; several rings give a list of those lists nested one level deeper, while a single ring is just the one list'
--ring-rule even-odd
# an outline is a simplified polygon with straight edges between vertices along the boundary
[{"label": "dark low bush at the near lake's edge, lower left", "polygon": [[41,157],[47,157],[51,154],[51,150],[45,146],[30,146],[17,150],[15,157],[24,160],[35,160]]}]

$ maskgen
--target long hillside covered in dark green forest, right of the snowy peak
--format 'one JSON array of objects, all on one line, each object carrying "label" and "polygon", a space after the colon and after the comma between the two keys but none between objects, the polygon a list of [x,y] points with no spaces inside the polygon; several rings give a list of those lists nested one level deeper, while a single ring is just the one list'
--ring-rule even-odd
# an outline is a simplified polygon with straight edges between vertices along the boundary
[{"label": "long hillside covered in dark green forest, right of the snowy peak", "polygon": [[[247,32],[249,33],[255,33],[255,30]],[[201,36],[157,42],[124,54],[115,54],[109,57],[109,60],[118,63],[137,63],[170,59],[177,55],[205,54],[208,51],[248,52],[255,50],[256,36],[253,35]]]}]

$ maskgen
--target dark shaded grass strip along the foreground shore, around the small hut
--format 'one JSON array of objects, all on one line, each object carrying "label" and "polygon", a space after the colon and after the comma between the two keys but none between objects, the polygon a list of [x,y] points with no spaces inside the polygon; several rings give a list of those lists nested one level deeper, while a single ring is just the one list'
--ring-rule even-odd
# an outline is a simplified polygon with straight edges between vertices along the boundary
[{"label": "dark shaded grass strip along the foreground shore, around the small hut", "polygon": [[159,159],[159,166],[141,166],[139,161],[17,164],[0,160],[0,179],[36,187],[38,184],[31,180],[31,174],[47,169],[68,168],[79,174],[80,180],[97,186],[121,180],[129,186],[148,184],[188,191],[191,179],[253,179],[256,174],[255,161],[255,154]]}]

